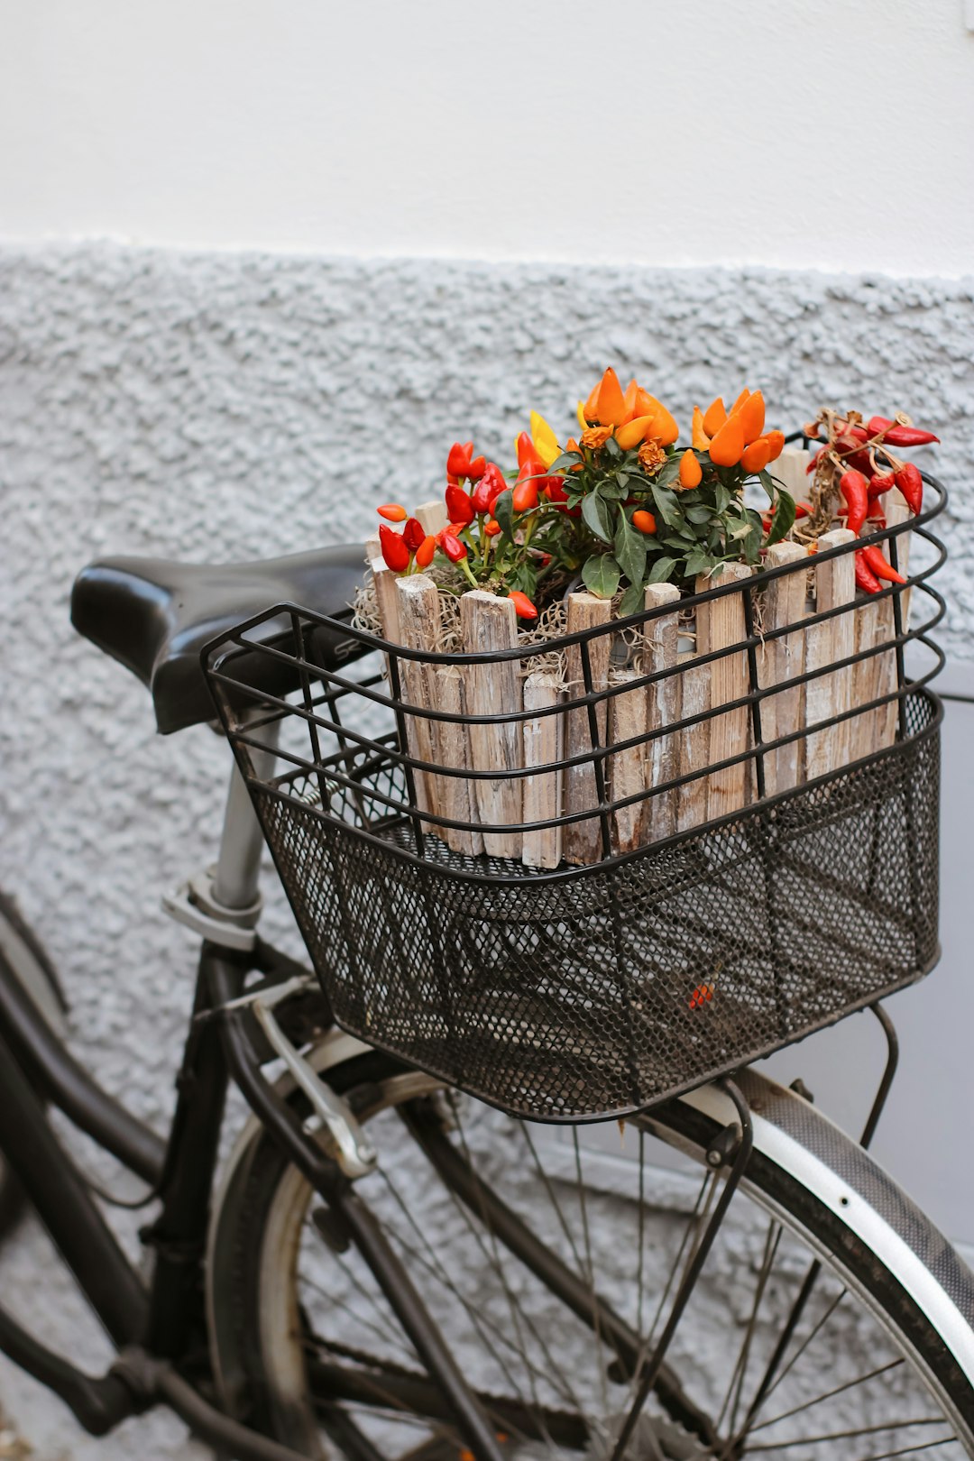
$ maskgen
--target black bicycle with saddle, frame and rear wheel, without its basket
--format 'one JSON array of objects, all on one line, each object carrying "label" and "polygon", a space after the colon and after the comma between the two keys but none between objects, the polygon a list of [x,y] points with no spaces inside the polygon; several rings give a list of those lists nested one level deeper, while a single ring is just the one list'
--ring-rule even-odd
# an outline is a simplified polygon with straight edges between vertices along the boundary
[{"label": "black bicycle with saddle, frame and rear wheel, without its basket", "polygon": [[[247,615],[276,643],[272,603],[314,614],[324,671],[362,653],[343,633],[361,565],[359,548],[108,560],[73,621],[169,732],[213,720],[207,643]],[[256,656],[257,694],[296,688],[280,659]],[[800,1083],[742,1071],[599,1143],[345,1033],[312,970],[257,932],[261,849],[235,764],[218,863],[166,899],[202,950],[165,1140],[67,1053],[50,963],[0,904],[0,1153],[117,1359],[86,1375],[1,1306],[0,1350],[82,1426],[162,1403],[254,1461],[974,1455],[974,1275],[866,1150],[895,1069],[881,1007],[862,1140]],[[231,1083],[251,1113],[221,1167]],[[149,1185],[149,1281],[47,1103]]]}]

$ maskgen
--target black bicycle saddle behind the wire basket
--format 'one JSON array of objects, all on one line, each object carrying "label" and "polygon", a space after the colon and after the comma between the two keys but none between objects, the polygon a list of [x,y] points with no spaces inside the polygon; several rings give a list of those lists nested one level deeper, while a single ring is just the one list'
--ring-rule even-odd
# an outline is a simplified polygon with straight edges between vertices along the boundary
[{"label": "black bicycle saddle behind the wire basket", "polygon": [[[74,580],[72,624],[147,685],[156,725],[168,735],[216,719],[200,666],[200,650],[209,640],[275,603],[298,603],[348,621],[364,573],[365,549],[359,545],[241,564],[102,558]],[[269,641],[286,628],[285,621],[270,619],[260,625],[258,637]],[[359,644],[337,630],[315,633],[315,660],[326,669],[359,653]],[[296,688],[282,682],[269,656],[254,656],[251,682],[275,694]]]}]

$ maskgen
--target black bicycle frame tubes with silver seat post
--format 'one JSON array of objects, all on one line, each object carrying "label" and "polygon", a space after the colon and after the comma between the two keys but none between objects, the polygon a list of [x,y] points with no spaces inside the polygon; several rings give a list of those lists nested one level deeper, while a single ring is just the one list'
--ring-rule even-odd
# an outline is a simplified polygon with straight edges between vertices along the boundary
[{"label": "black bicycle frame tubes with silver seat post", "polygon": [[[253,922],[258,906],[258,869],[263,839],[242,777],[232,771],[221,855],[209,887],[212,906],[226,918],[239,941],[241,928]],[[209,915],[203,915],[204,923]],[[228,942],[232,942],[228,938]],[[79,1287],[118,1349],[118,1360],[105,1376],[89,1376],[34,1340],[0,1308],[0,1350],[15,1363],[54,1389],[79,1422],[101,1435],[120,1420],[162,1400],[191,1429],[215,1446],[253,1461],[296,1461],[296,1452],[228,1419],[204,1401],[194,1381],[209,1378],[207,1331],[203,1311],[202,1265],[206,1252],[213,1178],[231,1078],[273,1140],[327,1199],[343,1235],[358,1246],[386,1293],[403,1330],[412,1338],[428,1373],[478,1461],[502,1461],[495,1430],[478,1397],[457,1369],[447,1341],[426,1312],[403,1264],[393,1252],[367,1204],[358,1199],[353,1182],[311,1140],[295,1110],[261,1074],[261,1064],[275,1050],[261,1042],[260,1030],[241,998],[250,974],[261,976],[260,989],[270,989],[310,976],[304,966],[261,942],[256,934],[250,948],[223,947],[204,939],[197,969],[193,1015],[180,1072],[177,1103],[168,1138],[164,1141],[102,1091],[51,1030],[15,976],[0,966],[0,1151],[20,1179],[41,1221]],[[323,996],[320,996],[323,999]],[[299,1018],[299,1015],[298,1015]],[[318,1026],[320,1002],[318,1002]],[[330,1024],[330,1012],[327,1012]],[[326,1036],[327,1037],[327,1036]],[[254,1048],[257,1046],[257,1049]],[[892,1074],[894,1049],[891,1045]],[[717,1153],[727,1164],[724,1197],[701,1240],[699,1262],[716,1236],[723,1210],[743,1173],[748,1141],[748,1110],[740,1093],[727,1083],[739,1110],[737,1138]],[[888,1090],[883,1081],[870,1116],[866,1138]],[[155,1251],[149,1284],[121,1251],[111,1227],[96,1207],[91,1189],[53,1131],[44,1102],[50,1102],[124,1167],[149,1183],[161,1202],[159,1216],[142,1232]],[[434,1134],[418,1132],[421,1145],[435,1151]],[[730,1135],[730,1128],[729,1128]],[[456,1191],[463,1197],[457,1179]],[[523,1246],[517,1227],[504,1211],[492,1214],[502,1240],[514,1251]],[[505,1227],[511,1227],[505,1233]],[[561,1292],[568,1283],[543,1249],[526,1251],[523,1259]],[[699,1265],[697,1265],[699,1267]],[[695,1275],[676,1294],[670,1327],[689,1297]],[[605,1308],[596,1325],[613,1322]],[[676,1376],[664,1366],[669,1331],[641,1376],[640,1405],[650,1386],[667,1395],[672,1405],[685,1407]],[[688,1422],[695,1417],[685,1410]],[[634,1411],[635,1419],[635,1411]],[[361,1442],[361,1445],[359,1445]],[[621,1452],[624,1438],[618,1451]],[[346,1449],[362,1461],[374,1457],[349,1420]]]}]

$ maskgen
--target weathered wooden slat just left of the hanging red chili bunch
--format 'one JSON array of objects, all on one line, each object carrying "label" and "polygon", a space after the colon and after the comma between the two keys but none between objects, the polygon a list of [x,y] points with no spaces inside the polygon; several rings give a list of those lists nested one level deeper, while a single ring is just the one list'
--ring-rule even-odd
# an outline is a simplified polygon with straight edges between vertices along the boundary
[{"label": "weathered wooden slat just left of the hanging red chili bunch", "polygon": [[[835,527],[822,533],[818,541],[819,554],[829,548],[853,542],[854,533],[847,527]],[[840,603],[851,603],[856,598],[856,562],[851,552],[828,562],[815,562],[815,608],[816,612],[834,609]],[[856,628],[853,612],[840,614],[824,624],[812,624],[805,638],[805,668],[808,672],[825,669],[837,659],[854,653]],[[850,722],[815,730],[821,720],[850,710],[853,703],[853,666],[837,669],[809,679],[805,687],[805,720],[809,735],[805,742],[805,767],[808,780],[845,766],[850,754]]]}]

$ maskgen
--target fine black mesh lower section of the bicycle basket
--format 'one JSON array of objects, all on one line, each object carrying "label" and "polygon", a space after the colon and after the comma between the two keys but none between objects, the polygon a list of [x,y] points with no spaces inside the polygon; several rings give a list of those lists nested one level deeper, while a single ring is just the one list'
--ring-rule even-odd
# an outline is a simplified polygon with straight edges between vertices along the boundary
[{"label": "fine black mesh lower section of the bicycle basket", "polygon": [[[767,1055],[932,966],[932,719],[913,697],[891,754],[555,880],[434,837],[412,861],[409,821],[364,837],[342,796],[326,815],[299,782],[254,798],[345,1029],[513,1113],[593,1118]],[[701,985],[713,996],[694,1005]]]}]

